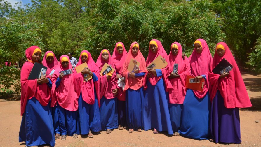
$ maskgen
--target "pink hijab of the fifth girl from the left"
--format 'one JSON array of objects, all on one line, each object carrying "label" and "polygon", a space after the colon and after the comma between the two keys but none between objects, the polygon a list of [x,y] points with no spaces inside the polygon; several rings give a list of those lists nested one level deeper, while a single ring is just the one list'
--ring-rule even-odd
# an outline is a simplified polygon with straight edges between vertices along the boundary
[{"label": "pink hijab of the fifth girl from the left", "polygon": [[[104,61],[102,59],[102,52],[106,50],[109,54],[109,58],[107,61]],[[99,67],[99,72],[102,70],[102,67],[103,65],[107,63],[109,65],[112,66],[112,68],[115,69],[115,66],[114,66],[114,63],[112,62],[112,57],[111,57],[111,54],[109,52],[109,50],[107,49],[103,49],[96,61],[96,65]],[[107,80],[106,76],[100,76],[100,96],[99,96],[99,99],[102,98],[102,96],[104,96],[106,99],[113,99],[114,96],[113,96],[113,93],[112,91],[114,89],[118,88],[117,86],[117,78],[116,78],[116,72],[114,71],[113,74],[112,74],[112,77],[110,80]],[[120,91],[118,91],[120,92]]]}]

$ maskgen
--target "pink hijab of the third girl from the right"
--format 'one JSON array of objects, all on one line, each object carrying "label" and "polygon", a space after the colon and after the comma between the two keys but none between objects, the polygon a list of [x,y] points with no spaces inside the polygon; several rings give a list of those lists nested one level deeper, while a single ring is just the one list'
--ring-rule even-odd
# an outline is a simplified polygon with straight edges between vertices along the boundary
[{"label": "pink hijab of the third girl from the right", "polygon": [[[173,44],[176,44],[178,46],[178,55],[172,55],[171,50]],[[167,78],[167,83],[170,84],[173,88],[169,91],[169,103],[171,104],[183,104],[183,101],[185,99],[186,95],[186,77],[187,75],[190,75],[190,64],[189,60],[186,57],[184,60],[182,58],[182,47],[180,43],[174,42],[171,44],[171,50],[168,55],[169,62],[170,62],[170,72],[172,73],[174,64],[178,64],[178,75],[180,75],[179,78]]]}]

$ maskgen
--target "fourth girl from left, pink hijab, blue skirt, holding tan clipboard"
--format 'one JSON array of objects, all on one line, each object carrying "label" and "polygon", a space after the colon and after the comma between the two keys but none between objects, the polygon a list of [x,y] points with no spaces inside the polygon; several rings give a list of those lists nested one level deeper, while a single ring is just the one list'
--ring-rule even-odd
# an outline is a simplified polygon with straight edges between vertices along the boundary
[{"label": "fourth girl from left, pink hijab, blue skirt, holding tan clipboard", "polygon": [[[96,93],[100,72],[90,52],[87,50],[81,52],[76,67],[83,63],[87,63],[88,68],[83,69],[81,73],[77,74],[76,68],[74,68],[74,87],[77,95],[79,95],[78,111],[81,134],[88,134],[88,137],[92,138],[93,134],[91,130],[94,132],[101,130],[100,110]],[[88,81],[87,79],[84,80],[84,74],[90,74],[92,79]]]}]

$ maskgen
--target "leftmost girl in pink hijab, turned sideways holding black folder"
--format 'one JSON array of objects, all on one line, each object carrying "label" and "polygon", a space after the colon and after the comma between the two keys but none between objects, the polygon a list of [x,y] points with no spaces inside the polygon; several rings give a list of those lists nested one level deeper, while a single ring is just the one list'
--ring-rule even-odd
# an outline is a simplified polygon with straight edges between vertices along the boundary
[{"label": "leftmost girl in pink hijab, turned sideways holding black folder", "polygon": [[25,56],[27,60],[21,69],[21,115],[23,117],[19,142],[25,141],[26,146],[42,144],[54,146],[53,119],[48,105],[52,82],[46,78],[46,75],[28,80],[34,63],[41,59],[41,50],[38,46],[27,48]]}]

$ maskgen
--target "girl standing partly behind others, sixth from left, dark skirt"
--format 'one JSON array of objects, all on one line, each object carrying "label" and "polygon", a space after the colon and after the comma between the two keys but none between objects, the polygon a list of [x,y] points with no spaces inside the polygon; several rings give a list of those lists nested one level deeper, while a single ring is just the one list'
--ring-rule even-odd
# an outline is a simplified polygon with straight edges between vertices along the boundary
[{"label": "girl standing partly behind others, sixth from left, dark skirt", "polygon": [[[115,44],[114,51],[112,53],[112,62],[115,65],[117,80],[122,77],[123,63],[127,57],[128,53],[125,50],[124,44],[122,42],[117,42]],[[123,130],[127,126],[126,122],[126,108],[125,108],[125,92],[122,88],[119,88],[119,93],[121,96],[117,97],[117,109],[118,109],[118,122],[119,130]]]}]

